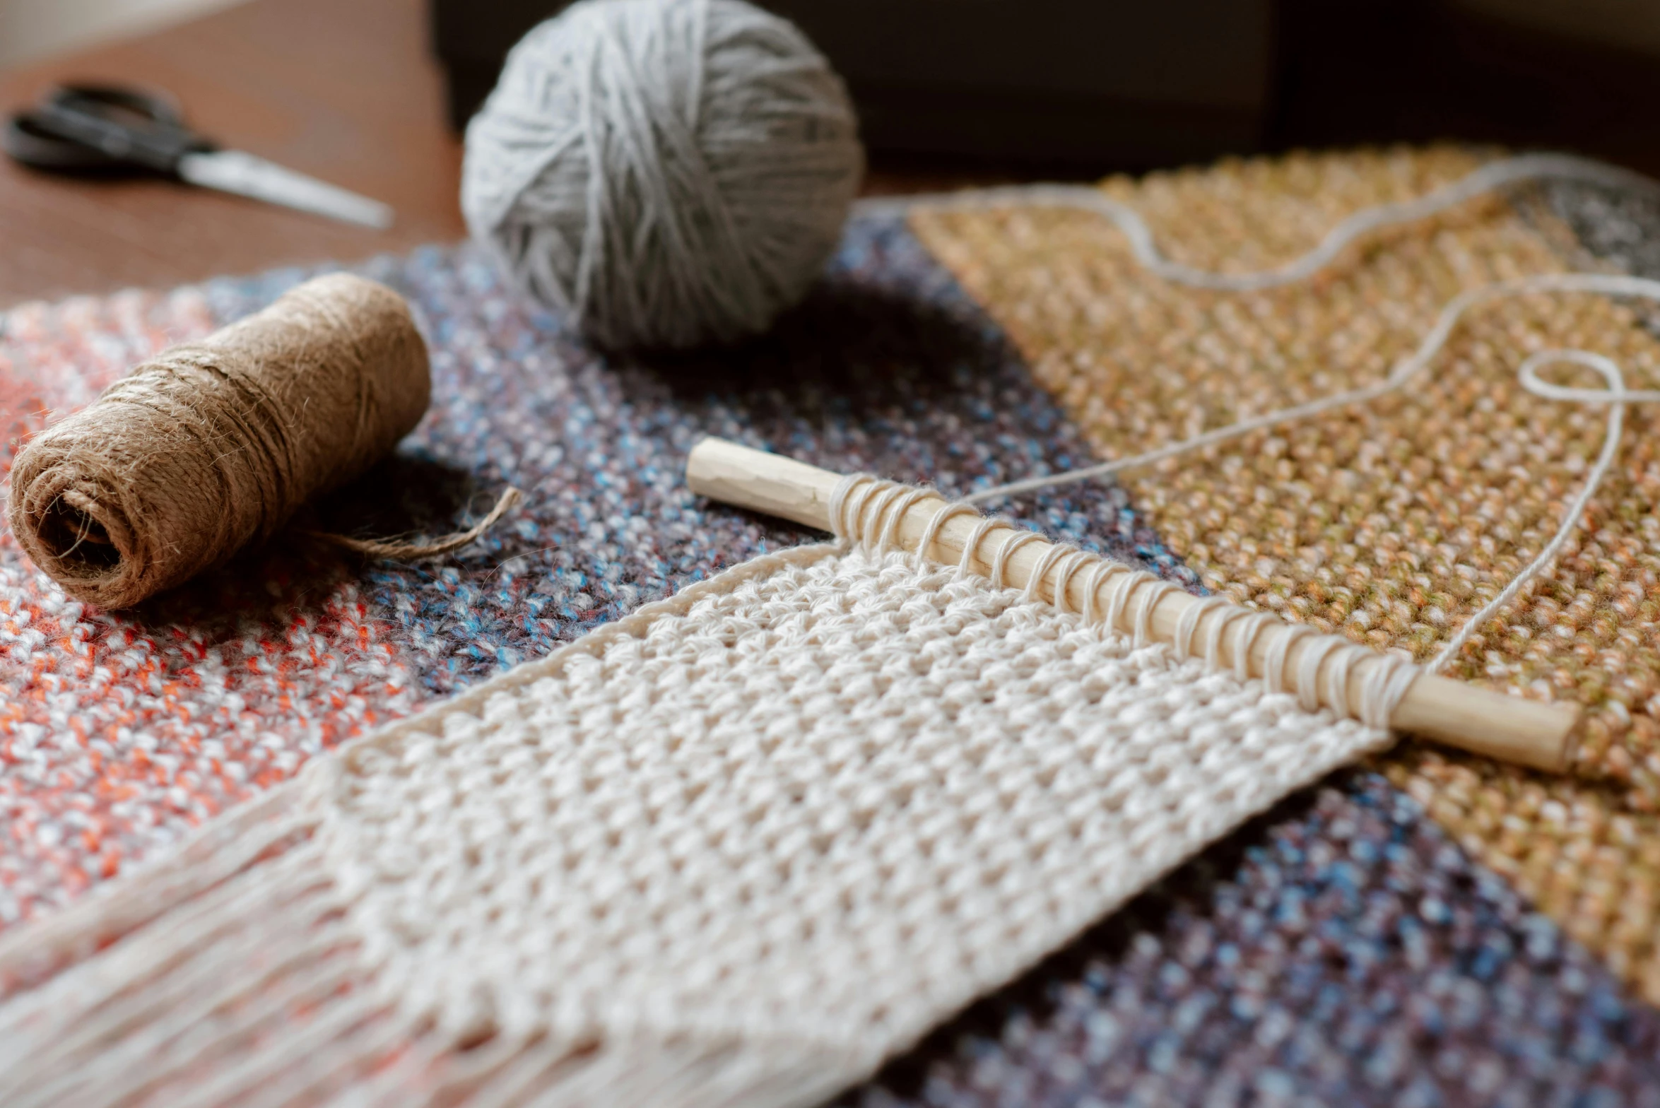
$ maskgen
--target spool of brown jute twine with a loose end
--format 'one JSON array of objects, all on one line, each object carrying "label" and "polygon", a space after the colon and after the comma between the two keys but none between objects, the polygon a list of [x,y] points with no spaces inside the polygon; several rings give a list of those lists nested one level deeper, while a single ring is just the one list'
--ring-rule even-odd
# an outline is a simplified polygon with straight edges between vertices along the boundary
[{"label": "spool of brown jute twine with a loose end", "polygon": [[[385,285],[332,274],[174,347],[37,435],[12,468],[23,551],[70,594],[128,607],[272,537],[387,454],[427,411],[427,345]],[[370,556],[465,546],[320,536]]]}]

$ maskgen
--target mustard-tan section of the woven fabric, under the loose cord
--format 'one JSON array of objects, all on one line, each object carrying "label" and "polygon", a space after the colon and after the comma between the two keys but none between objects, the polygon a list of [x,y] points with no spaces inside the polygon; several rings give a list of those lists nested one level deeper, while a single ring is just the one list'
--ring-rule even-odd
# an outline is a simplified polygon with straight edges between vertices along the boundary
[{"label": "mustard-tan section of the woven fabric, under the loose cord", "polygon": [[[1160,249],[1225,272],[1310,247],[1345,216],[1469,173],[1461,149],[1291,156],[1107,181]],[[1587,269],[1527,192],[1472,201],[1268,292],[1147,275],[1107,221],[1076,211],[918,212],[913,227],[1009,332],[1102,458],[1379,380],[1464,289]],[[1409,395],[1311,418],[1127,474],[1160,537],[1210,589],[1426,660],[1560,522],[1604,411],[1534,396],[1529,353],[1584,347],[1632,388],[1660,342],[1595,295],[1476,309]],[[1592,373],[1554,380],[1597,386]],[[1660,410],[1633,405],[1587,526],[1448,667],[1577,698],[1570,778],[1406,746],[1389,776],[1494,869],[1660,1000]]]}]

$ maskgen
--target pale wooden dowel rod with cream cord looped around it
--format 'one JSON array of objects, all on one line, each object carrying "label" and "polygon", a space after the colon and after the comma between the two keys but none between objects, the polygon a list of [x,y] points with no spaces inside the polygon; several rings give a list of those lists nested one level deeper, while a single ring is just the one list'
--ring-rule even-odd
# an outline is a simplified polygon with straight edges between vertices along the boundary
[{"label": "pale wooden dowel rod with cream cord looped around it", "polygon": [[[686,483],[694,493],[822,531],[835,529],[830,522],[830,498],[840,479],[838,473],[719,438],[706,438],[697,443],[686,463]],[[928,496],[913,504],[895,527],[898,546],[915,551],[928,521],[941,504],[943,498],[940,496]],[[971,516],[948,519],[940,527],[928,556],[941,562],[958,562],[974,526],[976,519]],[[989,572],[998,551],[1014,534],[1014,531],[1001,527],[986,534],[979,547],[969,554],[969,566],[979,572]],[[1046,541],[1029,541],[1009,554],[1004,564],[1006,581],[1013,587],[1026,587],[1049,546]],[[1051,567],[1036,586],[1036,592],[1051,602],[1054,600],[1056,576],[1056,567]],[[1116,581],[1107,581],[1101,586],[1096,610],[1107,610],[1107,595],[1116,584]],[[1086,574],[1072,574],[1067,581],[1066,600],[1071,610],[1084,610],[1086,587]],[[1150,612],[1152,637],[1172,642],[1177,620],[1192,604],[1199,604],[1199,597],[1187,592],[1165,592]],[[1129,612],[1120,617],[1120,622],[1127,619]],[[1120,625],[1117,630],[1127,632],[1130,627]],[[1232,645],[1232,635],[1223,635],[1218,660],[1225,665],[1233,665]],[[1270,649],[1270,634],[1255,639],[1250,650],[1252,675],[1263,675]],[[1291,645],[1285,667],[1285,682],[1293,690],[1296,688],[1296,660],[1301,649],[1303,644]],[[1378,663],[1383,663],[1381,657]],[[1360,690],[1370,670],[1371,663],[1361,662],[1350,672],[1350,703],[1360,703]],[[1320,698],[1321,703],[1326,703],[1323,690]],[[1328,707],[1345,715],[1350,710],[1346,703]],[[1419,673],[1389,717],[1389,727],[1502,761],[1562,771],[1574,756],[1580,712],[1570,703],[1522,700],[1434,673]]]}]

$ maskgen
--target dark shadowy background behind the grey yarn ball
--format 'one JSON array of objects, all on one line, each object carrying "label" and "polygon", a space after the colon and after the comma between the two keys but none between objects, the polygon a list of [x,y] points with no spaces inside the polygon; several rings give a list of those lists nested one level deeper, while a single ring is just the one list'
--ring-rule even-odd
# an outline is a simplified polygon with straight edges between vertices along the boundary
[{"label": "dark shadowy background behind the grey yarn ball", "polygon": [[[1660,43],[1645,2],[1628,0],[1623,23],[1615,5],[1575,12],[1567,0],[764,7],[795,20],[845,78],[876,187],[910,191],[1439,139],[1660,174]],[[456,131],[508,48],[563,7],[430,0]]]}]

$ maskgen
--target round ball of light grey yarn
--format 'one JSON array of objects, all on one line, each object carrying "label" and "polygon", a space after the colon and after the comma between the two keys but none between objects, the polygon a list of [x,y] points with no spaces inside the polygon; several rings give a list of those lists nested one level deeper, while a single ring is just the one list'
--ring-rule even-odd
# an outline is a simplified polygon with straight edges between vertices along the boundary
[{"label": "round ball of light grey yarn", "polygon": [[742,0],[583,0],[508,55],[461,209],[515,284],[616,348],[765,330],[840,239],[865,159],[842,80]]}]

